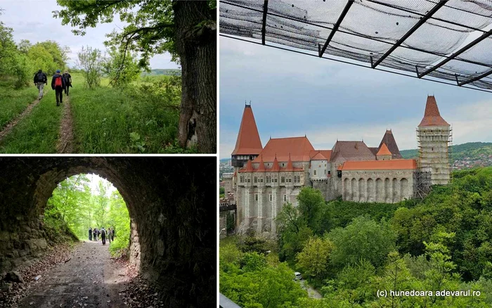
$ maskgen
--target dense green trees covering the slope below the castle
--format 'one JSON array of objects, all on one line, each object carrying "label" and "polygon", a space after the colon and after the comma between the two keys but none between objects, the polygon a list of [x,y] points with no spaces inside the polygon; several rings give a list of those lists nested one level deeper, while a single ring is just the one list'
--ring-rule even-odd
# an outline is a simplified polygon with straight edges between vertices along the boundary
[{"label": "dense green trees covering the slope below the castle", "polygon": [[327,203],[313,188],[298,200],[278,214],[276,240],[221,240],[220,292],[241,307],[491,307],[492,167],[455,172],[423,200]]}]

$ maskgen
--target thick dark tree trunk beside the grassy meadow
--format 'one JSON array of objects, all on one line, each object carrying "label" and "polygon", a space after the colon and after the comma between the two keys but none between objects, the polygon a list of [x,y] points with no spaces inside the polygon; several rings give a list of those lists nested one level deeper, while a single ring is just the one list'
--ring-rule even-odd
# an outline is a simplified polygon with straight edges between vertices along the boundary
[{"label": "thick dark tree trunk beside the grassy meadow", "polygon": [[183,80],[179,146],[216,153],[216,20],[207,1],[176,1],[173,9]]}]

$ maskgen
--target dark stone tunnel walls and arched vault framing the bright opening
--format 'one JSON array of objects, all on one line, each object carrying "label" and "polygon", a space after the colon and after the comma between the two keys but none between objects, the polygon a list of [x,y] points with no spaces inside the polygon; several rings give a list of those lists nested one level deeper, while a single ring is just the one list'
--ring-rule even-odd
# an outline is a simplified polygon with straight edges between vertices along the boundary
[{"label": "dark stone tunnel walls and arched vault framing the bright opening", "polygon": [[[98,174],[131,217],[138,269],[169,307],[216,303],[216,158],[0,158],[0,274],[48,249],[44,210],[60,182]],[[133,259],[133,262],[136,262]]]}]

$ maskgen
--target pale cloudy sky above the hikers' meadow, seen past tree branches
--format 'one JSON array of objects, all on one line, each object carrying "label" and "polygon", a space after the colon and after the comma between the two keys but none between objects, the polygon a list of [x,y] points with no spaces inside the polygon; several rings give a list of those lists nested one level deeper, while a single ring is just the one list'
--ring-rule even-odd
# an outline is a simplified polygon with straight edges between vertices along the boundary
[{"label": "pale cloudy sky above the hikers' meadow, seen past tree branches", "polygon": [[[124,27],[124,23],[115,18],[113,23],[99,24],[96,28],[88,28],[84,37],[75,36],[70,25],[61,25],[61,20],[53,18],[53,11],[60,11],[56,0],[0,0],[0,8],[4,9],[0,20],[7,27],[13,28],[13,37],[19,42],[28,39],[32,44],[37,41],[55,40],[62,46],[69,46],[69,66],[75,65],[77,52],[82,46],[105,50],[103,42],[105,34],[113,29]],[[169,53],[155,56],[150,60],[151,68],[178,68],[176,63],[171,62]]]}]

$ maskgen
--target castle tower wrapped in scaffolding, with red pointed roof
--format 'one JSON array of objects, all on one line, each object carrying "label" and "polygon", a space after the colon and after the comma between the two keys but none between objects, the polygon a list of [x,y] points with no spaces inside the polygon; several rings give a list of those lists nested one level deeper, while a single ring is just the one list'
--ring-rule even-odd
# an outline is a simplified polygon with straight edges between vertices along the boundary
[{"label": "castle tower wrapped in scaffolding, with red pointed roof", "polygon": [[432,185],[449,183],[451,170],[448,142],[450,138],[451,126],[441,117],[436,98],[427,96],[425,114],[417,127],[417,141],[420,169],[431,173]]}]

